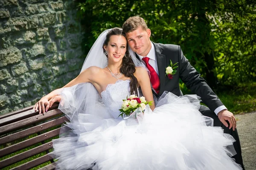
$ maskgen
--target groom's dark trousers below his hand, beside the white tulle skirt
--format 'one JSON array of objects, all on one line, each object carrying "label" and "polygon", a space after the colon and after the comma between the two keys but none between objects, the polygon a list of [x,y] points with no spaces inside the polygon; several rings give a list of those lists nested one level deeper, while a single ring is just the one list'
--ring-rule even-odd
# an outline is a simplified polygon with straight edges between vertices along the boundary
[{"label": "groom's dark trousers below his hand, beside the white tulle skirt", "polygon": [[[233,143],[234,148],[236,150],[236,155],[232,156],[232,158],[234,158],[236,160],[236,163],[240,164],[242,166],[242,168],[244,169],[242,153],[241,153],[241,145],[240,145],[237,130],[235,129],[235,131],[233,131],[232,128],[229,129],[229,126],[228,127],[224,126],[223,123],[221,123],[221,121],[218,119],[218,116],[214,112],[210,111],[209,108],[202,105],[201,108],[199,109],[199,111],[204,116],[208,116],[213,119],[213,126],[220,126],[224,129],[224,133],[227,133],[227,134],[230,134],[231,136],[233,136],[233,138],[236,140],[236,142]],[[227,123],[229,125],[229,122],[227,122]]]}]

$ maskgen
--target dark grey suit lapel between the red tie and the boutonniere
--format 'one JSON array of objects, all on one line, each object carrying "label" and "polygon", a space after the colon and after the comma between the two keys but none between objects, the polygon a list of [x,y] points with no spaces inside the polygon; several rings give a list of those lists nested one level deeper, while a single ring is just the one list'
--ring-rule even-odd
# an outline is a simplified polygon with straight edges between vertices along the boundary
[{"label": "dark grey suit lapel between the red tie and the boutonniere", "polygon": [[158,67],[158,73],[159,73],[159,79],[160,79],[160,91],[158,96],[161,96],[164,91],[165,86],[165,79],[166,79],[166,56],[162,54],[162,49],[157,43],[153,42],[153,45],[155,47],[156,51],[156,57],[157,57],[157,67]]}]

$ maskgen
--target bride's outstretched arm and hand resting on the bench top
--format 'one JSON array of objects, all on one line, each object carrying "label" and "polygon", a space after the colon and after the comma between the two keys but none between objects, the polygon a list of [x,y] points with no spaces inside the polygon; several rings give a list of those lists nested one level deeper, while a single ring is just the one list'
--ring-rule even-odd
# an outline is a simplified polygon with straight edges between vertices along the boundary
[{"label": "bride's outstretched arm and hand resting on the bench top", "polygon": [[[35,104],[35,106],[34,106],[35,111],[38,109],[39,114],[41,114],[41,112],[45,113],[50,106],[49,100],[52,99],[54,96],[57,96],[58,94],[60,94],[61,91],[63,90],[63,88],[71,87],[71,86],[79,84],[81,82],[92,82],[93,74],[95,74],[97,72],[97,70],[98,69],[96,67],[87,68],[84,71],[82,71],[75,79],[73,79],[69,83],[67,83],[67,85],[64,85],[62,88],[58,88],[58,89],[50,92],[46,96],[42,97]],[[45,105],[46,105],[46,108],[45,108]]]}]

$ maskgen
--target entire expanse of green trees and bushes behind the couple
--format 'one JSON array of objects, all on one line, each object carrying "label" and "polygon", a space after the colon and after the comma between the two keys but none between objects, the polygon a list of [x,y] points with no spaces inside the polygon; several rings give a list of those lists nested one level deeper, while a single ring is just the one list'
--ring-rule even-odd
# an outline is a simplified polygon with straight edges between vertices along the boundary
[{"label": "entire expanse of green trees and bushes behind the couple", "polygon": [[253,0],[80,0],[84,50],[99,34],[140,16],[151,40],[177,44],[213,88],[256,80],[256,2]]}]

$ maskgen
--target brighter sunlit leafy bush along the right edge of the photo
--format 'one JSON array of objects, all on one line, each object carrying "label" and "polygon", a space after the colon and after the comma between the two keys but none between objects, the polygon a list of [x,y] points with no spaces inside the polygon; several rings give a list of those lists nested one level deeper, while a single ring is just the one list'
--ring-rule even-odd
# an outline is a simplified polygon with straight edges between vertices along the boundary
[{"label": "brighter sunlit leafy bush along the right edge of the photo", "polygon": [[256,11],[250,1],[230,1],[215,20],[216,74],[223,85],[239,85],[256,78]]}]

